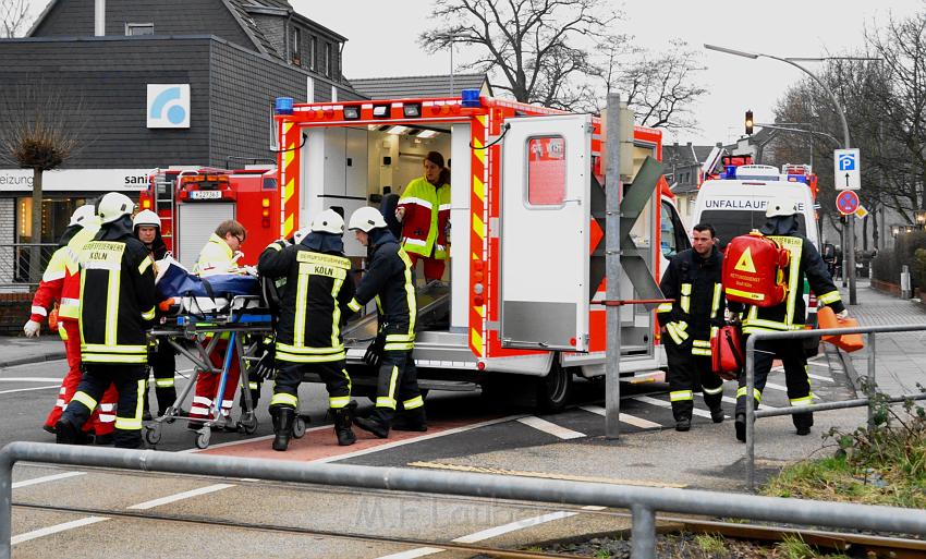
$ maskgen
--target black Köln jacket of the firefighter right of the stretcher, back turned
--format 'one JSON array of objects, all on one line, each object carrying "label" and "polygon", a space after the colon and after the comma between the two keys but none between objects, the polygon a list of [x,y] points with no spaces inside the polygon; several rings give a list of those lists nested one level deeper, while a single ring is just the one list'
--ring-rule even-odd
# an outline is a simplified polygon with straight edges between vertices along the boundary
[{"label": "black K\u00f6ln jacket of the firefighter right of the stretcher, back turned", "polygon": [[267,246],[257,272],[287,279],[277,321],[277,360],[320,363],[345,357],[341,325],[354,296],[350,270],[343,253],[314,252],[283,241]]}]

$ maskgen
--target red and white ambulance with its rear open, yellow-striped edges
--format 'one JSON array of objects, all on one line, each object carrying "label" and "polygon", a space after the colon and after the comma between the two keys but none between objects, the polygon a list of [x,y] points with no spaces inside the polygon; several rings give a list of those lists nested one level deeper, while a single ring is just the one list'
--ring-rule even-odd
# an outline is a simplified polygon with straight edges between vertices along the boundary
[{"label": "red and white ambulance with its rear open, yellow-striped edges", "polygon": [[[443,282],[419,285],[417,294],[414,357],[423,389],[505,386],[509,396],[534,394],[540,408],[555,411],[564,404],[573,376],[604,375],[606,311],[597,304],[605,299],[599,119],[480,97],[477,90],[305,105],[281,98],[275,112],[278,199],[242,208],[239,198],[236,216],[279,211],[270,220],[271,229],[279,226],[277,236],[292,236],[325,209],[346,220],[353,210],[401,193],[422,174],[428,151],[449,162],[448,271]],[[630,179],[647,157],[661,159],[661,139],[658,130],[633,129],[628,163],[622,162],[625,172],[632,167]],[[656,279],[667,258],[690,246],[661,173],[648,183],[626,181],[624,200],[641,199],[639,192],[629,195],[641,189],[638,207],[622,207],[621,293],[628,300],[658,294]],[[362,268],[366,248],[350,234],[345,251]],[[360,394],[375,385],[375,372],[362,360],[376,335],[375,315],[369,308],[344,329]],[[666,366],[650,308],[622,306],[620,336],[622,375],[648,379]]]}]

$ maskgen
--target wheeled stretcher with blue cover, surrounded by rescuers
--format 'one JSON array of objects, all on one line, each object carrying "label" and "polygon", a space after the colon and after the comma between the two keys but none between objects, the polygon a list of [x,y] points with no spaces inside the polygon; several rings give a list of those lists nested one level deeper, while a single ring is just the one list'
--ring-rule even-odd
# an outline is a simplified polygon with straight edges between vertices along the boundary
[{"label": "wheeled stretcher with blue cover, surrounded by rescuers", "polygon": [[[239,360],[241,386],[248,386],[249,363],[259,360],[255,355],[258,341],[273,331],[269,308],[261,303],[259,295],[230,295],[229,297],[185,296],[175,300],[162,324],[156,326],[150,335],[158,343],[169,343],[181,355],[193,362],[193,375],[190,377],[176,400],[163,415],[153,418],[144,426],[145,440],[157,445],[161,438],[161,427],[165,423],[175,420],[202,421],[200,417],[181,415],[180,404],[190,396],[196,386],[200,374],[219,374],[219,387],[209,415],[203,427],[196,430],[196,447],[205,449],[209,446],[211,432],[216,427],[226,426],[226,417],[221,412],[221,403],[228,382],[232,360]],[[226,339],[228,344],[222,356],[221,367],[216,367],[209,355],[218,348],[219,341]],[[242,390],[244,409],[235,424],[239,430],[252,434],[257,429],[257,415],[251,401],[251,390]],[[304,424],[303,424],[304,433]]]}]

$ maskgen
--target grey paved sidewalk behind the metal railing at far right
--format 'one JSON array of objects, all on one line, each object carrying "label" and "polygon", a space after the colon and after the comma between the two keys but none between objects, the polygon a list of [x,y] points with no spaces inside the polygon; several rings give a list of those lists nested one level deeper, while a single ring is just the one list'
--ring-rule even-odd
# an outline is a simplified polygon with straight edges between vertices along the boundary
[{"label": "grey paved sidewalk behind the metal railing at far right", "polygon": [[[849,288],[840,287],[843,303],[849,303]],[[910,300],[898,299],[872,289],[867,279],[856,283],[855,306],[849,306],[850,316],[858,320],[860,326],[923,325],[926,324],[926,305]],[[880,391],[890,396],[918,393],[916,384],[926,385],[926,332],[878,333],[876,336],[875,381]],[[865,348],[850,353],[843,362],[855,389],[858,390],[858,377],[868,374],[868,341]],[[854,370],[853,370],[854,369]],[[862,396],[862,394],[860,394]]]}]

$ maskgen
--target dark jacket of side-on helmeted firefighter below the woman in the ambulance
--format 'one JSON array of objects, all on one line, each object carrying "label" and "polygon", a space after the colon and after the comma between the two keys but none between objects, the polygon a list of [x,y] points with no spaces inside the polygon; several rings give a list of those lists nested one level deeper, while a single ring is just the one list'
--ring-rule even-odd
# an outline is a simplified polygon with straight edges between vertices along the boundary
[{"label": "dark jacket of side-on helmeted firefighter below the woman in the ambulance", "polygon": [[385,228],[371,230],[369,239],[369,264],[348,306],[356,312],[376,297],[380,320],[385,324],[385,351],[412,350],[417,318],[412,260]]}]

